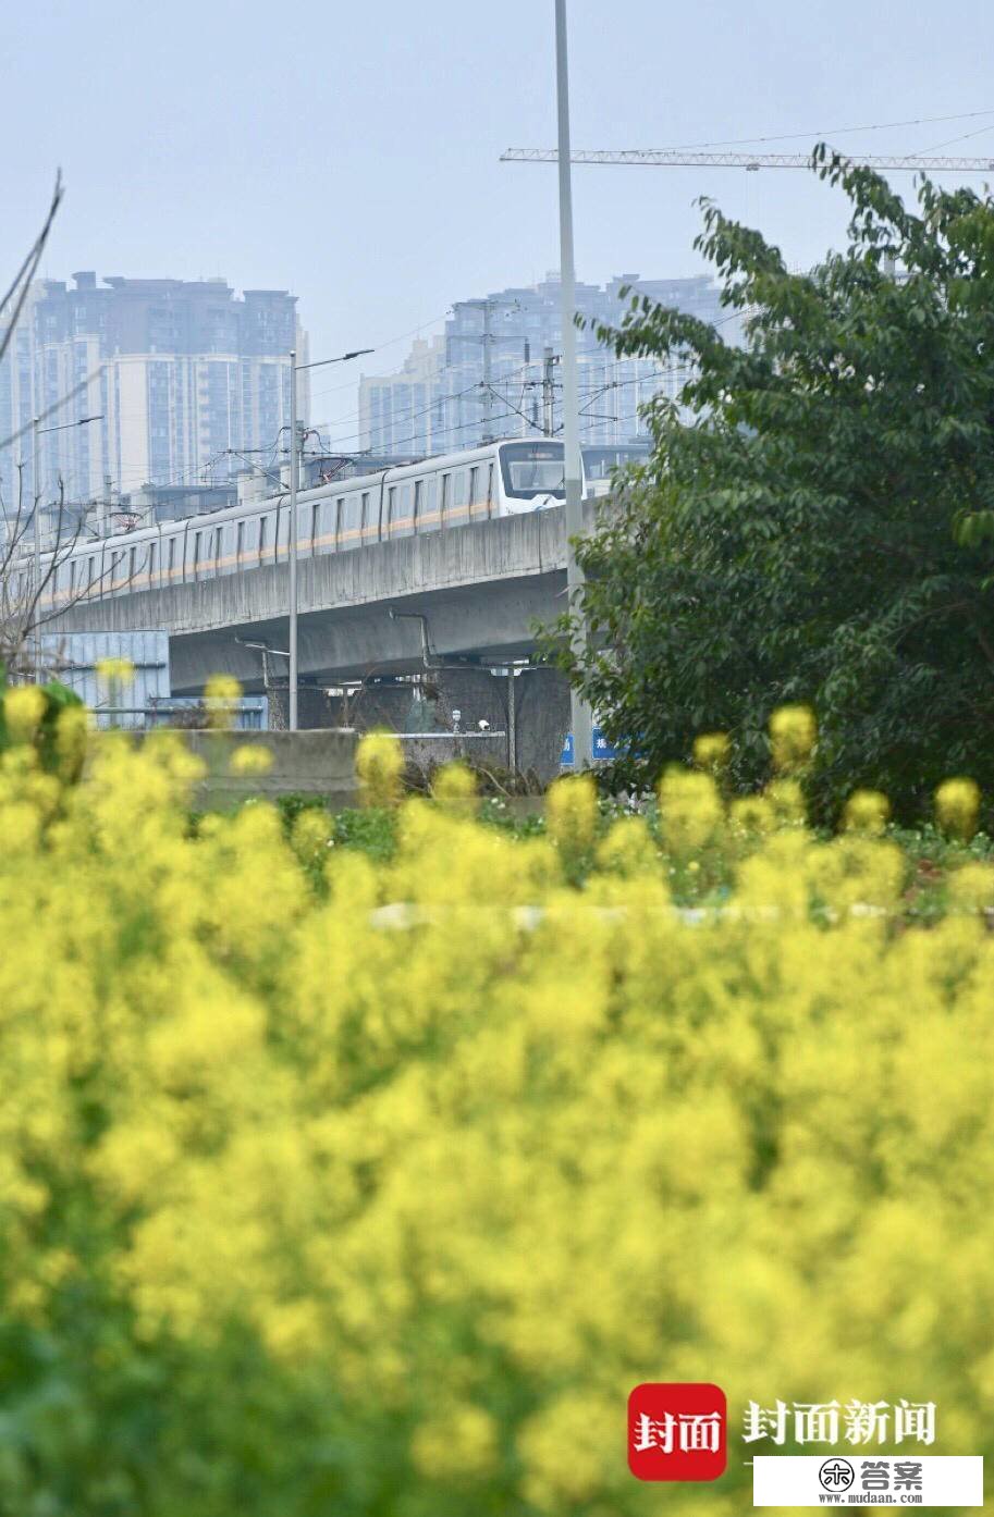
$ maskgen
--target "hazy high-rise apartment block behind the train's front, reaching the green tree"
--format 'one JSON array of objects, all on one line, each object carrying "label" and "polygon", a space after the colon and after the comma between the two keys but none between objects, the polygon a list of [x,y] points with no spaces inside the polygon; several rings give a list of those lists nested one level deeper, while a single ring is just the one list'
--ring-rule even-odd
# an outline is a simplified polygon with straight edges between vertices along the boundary
[{"label": "hazy high-rise apartment block behind the train's front, reaching the green tree", "polygon": [[[621,444],[646,437],[642,405],[654,394],[675,394],[686,367],[648,358],[618,358],[601,343],[596,325],[618,325],[630,287],[660,305],[721,326],[738,340],[739,320],[721,305],[719,290],[694,279],[640,279],[619,275],[606,285],[577,284],[581,440]],[[560,282],[501,290],[460,300],[445,335],[419,340],[404,367],[360,382],[360,446],[375,452],[437,454],[470,448],[486,437],[536,437],[561,428]]]}]

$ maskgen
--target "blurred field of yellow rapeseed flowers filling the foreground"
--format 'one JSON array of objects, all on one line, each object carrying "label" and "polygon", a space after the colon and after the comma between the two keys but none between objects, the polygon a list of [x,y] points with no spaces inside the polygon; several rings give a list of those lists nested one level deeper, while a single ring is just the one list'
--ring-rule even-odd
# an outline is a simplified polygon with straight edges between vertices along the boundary
[{"label": "blurred field of yellow rapeseed flowers filling the foreground", "polygon": [[[388,745],[363,766],[395,793]],[[211,1434],[215,1461],[253,1450],[246,1491],[293,1437],[273,1387],[317,1387],[320,1456],[351,1450],[367,1496],[338,1503],[308,1444],[296,1494],[240,1511],[637,1517],[640,1380],[728,1394],[728,1475],[668,1491],[678,1517],[750,1506],[747,1400],[933,1400],[927,1452],[994,1455],[991,869],[895,931],[876,801],[826,842],[794,792],[728,813],[671,774],[672,856],[738,860],[689,913],[642,818],[595,845],[583,780],[552,790],[551,836],[514,840],[452,778],[373,863],[264,802],[193,836],[194,778],[165,737],[103,743],[76,787],[3,758],[5,1329],[123,1303],[94,1374],[131,1332],[131,1396],[159,1364],[168,1399],[170,1344],[196,1344],[219,1408],[243,1391],[226,1346],[255,1341],[234,1452]],[[228,1509],[184,1458],[162,1453],[193,1471],[175,1506],[120,1509]],[[387,1459],[407,1506],[369,1494]]]}]

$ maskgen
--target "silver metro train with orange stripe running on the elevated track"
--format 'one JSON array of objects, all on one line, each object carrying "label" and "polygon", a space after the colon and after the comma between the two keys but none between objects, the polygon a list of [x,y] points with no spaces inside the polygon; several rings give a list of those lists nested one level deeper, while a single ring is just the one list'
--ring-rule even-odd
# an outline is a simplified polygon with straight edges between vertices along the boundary
[{"label": "silver metro train with orange stripe running on the elevated track", "polygon": [[[584,493],[601,493],[613,467],[646,449],[584,449]],[[565,499],[563,444],[499,441],[425,458],[370,475],[331,481],[297,495],[297,555],[343,552],[416,532],[543,510]],[[284,563],[290,502],[284,490],[105,539],[79,539],[59,557],[46,599],[103,599],[193,584]],[[52,555],[42,555],[42,573]],[[29,564],[23,566],[30,573]]]}]

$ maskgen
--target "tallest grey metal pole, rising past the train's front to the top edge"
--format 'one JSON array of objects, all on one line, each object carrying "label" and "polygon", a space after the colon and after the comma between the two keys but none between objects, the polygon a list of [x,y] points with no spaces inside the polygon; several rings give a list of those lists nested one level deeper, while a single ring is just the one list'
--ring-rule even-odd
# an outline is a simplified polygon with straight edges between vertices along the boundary
[{"label": "tallest grey metal pole, rising past the train's front to the top edge", "polygon": [[[575,539],[583,531],[583,460],[580,455],[580,388],[577,382],[577,275],[574,269],[574,208],[569,167],[569,67],[566,55],[566,0],[555,0],[555,103],[558,117],[558,243],[560,291],[563,299],[563,467],[566,484],[566,599],[580,616],[574,649],[586,652],[586,614],[583,611],[584,573],[577,563]],[[593,718],[575,686],[569,710],[574,733],[574,774],[593,762]]]}]

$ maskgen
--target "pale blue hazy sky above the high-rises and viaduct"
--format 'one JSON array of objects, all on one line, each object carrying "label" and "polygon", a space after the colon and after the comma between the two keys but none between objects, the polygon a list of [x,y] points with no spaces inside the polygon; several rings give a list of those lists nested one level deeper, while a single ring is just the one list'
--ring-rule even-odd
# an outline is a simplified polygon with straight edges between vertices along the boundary
[{"label": "pale blue hazy sky above the high-rises and viaduct", "polygon": [[[197,278],[300,297],[314,358],[379,347],[557,267],[552,0],[67,0],[5,8],[3,262],[33,237],[56,164],[46,275]],[[838,137],[853,152],[994,156],[991,0],[571,0],[575,147],[672,147],[985,111]],[[911,185],[911,176],[901,176]],[[792,262],[842,238],[801,173],[577,168],[578,275],[700,270],[709,194]],[[0,270],[2,273],[2,270]],[[387,346],[388,344],[388,346]],[[314,376],[316,420],[355,444],[355,378]]]}]

